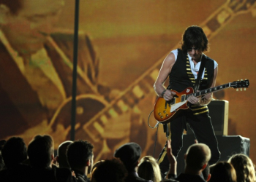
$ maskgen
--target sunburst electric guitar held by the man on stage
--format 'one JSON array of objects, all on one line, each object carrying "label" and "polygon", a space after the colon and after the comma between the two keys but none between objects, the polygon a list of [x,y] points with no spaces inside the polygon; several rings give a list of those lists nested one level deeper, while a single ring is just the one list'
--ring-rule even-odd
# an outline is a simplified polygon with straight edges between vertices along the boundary
[{"label": "sunburst electric guitar held by the man on stage", "polygon": [[241,80],[237,82],[230,82],[227,84],[222,84],[217,87],[208,88],[206,90],[201,90],[199,92],[194,92],[192,87],[187,87],[187,89],[182,92],[177,92],[176,90],[172,90],[176,92],[172,100],[166,101],[164,98],[158,98],[154,105],[154,118],[157,119],[158,122],[165,124],[170,122],[181,110],[189,108],[187,104],[187,98],[190,95],[194,95],[195,97],[200,97],[201,95],[206,95],[211,92],[217,92],[219,90],[224,90],[227,88],[244,88],[246,90],[249,87],[249,80]]}]

